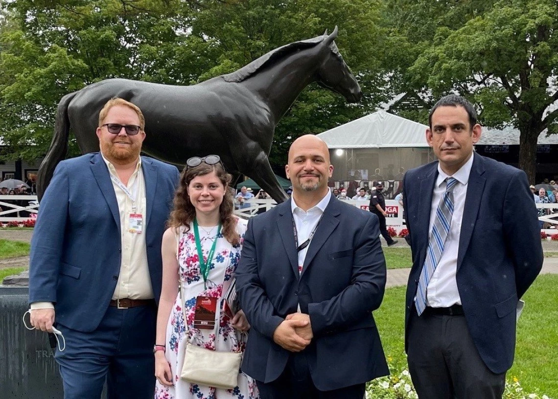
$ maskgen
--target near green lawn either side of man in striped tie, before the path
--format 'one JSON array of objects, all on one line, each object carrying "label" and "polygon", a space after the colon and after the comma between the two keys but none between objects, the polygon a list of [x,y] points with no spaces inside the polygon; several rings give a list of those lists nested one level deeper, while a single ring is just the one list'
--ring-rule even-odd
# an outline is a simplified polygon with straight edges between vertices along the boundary
[{"label": "near green lawn either side of man in striped tie, before the path", "polygon": [[[541,275],[527,291],[525,309],[517,324],[515,362],[507,373],[517,377],[523,392],[558,398],[558,275]],[[405,287],[388,288],[374,312],[386,357],[399,370],[406,365],[403,347]]]}]

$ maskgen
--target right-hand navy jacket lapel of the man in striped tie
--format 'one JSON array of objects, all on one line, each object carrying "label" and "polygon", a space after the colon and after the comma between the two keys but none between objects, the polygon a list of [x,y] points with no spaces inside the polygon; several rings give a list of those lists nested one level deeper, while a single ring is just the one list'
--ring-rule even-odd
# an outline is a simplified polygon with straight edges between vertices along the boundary
[{"label": "right-hand navy jacket lapel of the man in striped tie", "polygon": [[477,214],[479,212],[480,200],[482,199],[484,184],[486,183],[486,179],[482,177],[484,174],[483,159],[477,155],[477,153],[473,153],[473,157],[473,166],[467,183],[467,194],[465,196],[465,207],[463,209],[463,219],[461,220],[461,232],[459,235],[459,251],[457,257],[458,270],[461,266],[461,262],[463,262],[463,257],[465,256],[471,236],[473,235],[475,221],[477,220]]}]

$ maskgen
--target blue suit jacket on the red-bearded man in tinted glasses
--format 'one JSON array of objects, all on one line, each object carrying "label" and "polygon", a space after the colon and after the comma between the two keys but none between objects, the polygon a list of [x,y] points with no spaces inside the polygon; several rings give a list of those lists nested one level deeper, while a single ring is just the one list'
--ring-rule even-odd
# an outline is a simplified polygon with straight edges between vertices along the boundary
[{"label": "blue suit jacket on the red-bearded man in tinted glasses", "polygon": [[[142,157],[145,239],[153,294],[161,295],[161,240],[179,178],[176,167]],[[55,303],[56,323],[93,331],[107,311],[121,265],[118,203],[100,153],[58,164],[41,200],[29,267],[29,301]]]}]

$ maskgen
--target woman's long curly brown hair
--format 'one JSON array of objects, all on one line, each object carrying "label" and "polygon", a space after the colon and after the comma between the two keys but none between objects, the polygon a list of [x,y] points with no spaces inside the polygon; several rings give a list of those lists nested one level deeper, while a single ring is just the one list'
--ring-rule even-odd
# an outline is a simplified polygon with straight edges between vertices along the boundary
[{"label": "woman's long curly brown hair", "polygon": [[225,169],[223,169],[220,163],[208,165],[202,162],[196,167],[184,168],[184,171],[180,174],[179,186],[176,189],[173,201],[174,207],[170,213],[167,226],[174,228],[185,226],[186,231],[190,230],[190,223],[193,222],[194,217],[196,217],[196,208],[190,201],[190,196],[187,191],[188,185],[195,177],[205,176],[211,172],[215,172],[215,176],[217,176],[221,183],[223,183],[223,186],[225,186],[225,196],[223,197],[223,202],[219,206],[219,221],[223,226],[221,232],[230,244],[238,245],[240,243],[240,235],[236,231],[238,218],[233,215],[234,200],[233,194],[229,190],[232,176],[225,172]]}]

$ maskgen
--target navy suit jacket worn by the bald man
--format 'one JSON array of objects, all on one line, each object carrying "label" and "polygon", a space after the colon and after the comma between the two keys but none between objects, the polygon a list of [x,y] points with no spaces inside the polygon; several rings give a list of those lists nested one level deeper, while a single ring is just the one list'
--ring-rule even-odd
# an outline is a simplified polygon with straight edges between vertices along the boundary
[{"label": "navy suit jacket worn by the bald man", "polygon": [[243,372],[275,381],[290,352],[273,342],[288,314],[310,315],[305,349],[314,385],[328,391],[388,374],[372,310],[382,303],[386,261],[378,218],[331,197],[299,277],[291,200],[251,218],[236,271],[252,328]]}]

